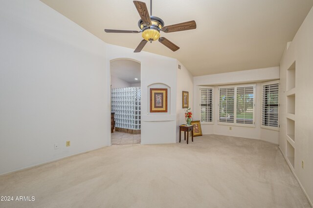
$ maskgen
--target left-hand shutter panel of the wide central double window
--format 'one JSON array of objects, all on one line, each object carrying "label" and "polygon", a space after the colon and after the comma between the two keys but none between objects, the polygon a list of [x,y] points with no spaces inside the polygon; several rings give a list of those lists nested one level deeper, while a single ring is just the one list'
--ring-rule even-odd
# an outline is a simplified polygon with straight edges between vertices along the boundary
[{"label": "left-hand shutter panel of the wide central double window", "polygon": [[220,88],[220,122],[234,123],[235,88]]}]

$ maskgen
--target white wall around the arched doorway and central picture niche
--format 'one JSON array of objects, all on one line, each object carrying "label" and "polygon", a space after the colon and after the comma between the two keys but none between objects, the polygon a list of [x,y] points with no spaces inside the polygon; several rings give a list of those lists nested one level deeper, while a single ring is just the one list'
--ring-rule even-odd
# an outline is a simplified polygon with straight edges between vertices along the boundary
[{"label": "white wall around the arched doorway and central picture niche", "polygon": [[[144,51],[134,53],[132,48],[107,44],[108,67],[110,61],[114,59],[132,59],[141,63],[141,144],[175,143],[177,60]],[[110,77],[110,70],[108,70],[108,77]],[[148,89],[150,85],[159,83],[166,84],[170,88],[168,113],[149,113]],[[106,98],[107,106],[110,106],[110,96]]]}]

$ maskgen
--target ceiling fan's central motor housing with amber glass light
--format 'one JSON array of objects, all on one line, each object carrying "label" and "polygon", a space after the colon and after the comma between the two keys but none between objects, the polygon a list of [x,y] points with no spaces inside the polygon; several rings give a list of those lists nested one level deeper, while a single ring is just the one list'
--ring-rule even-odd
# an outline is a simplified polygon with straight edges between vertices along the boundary
[{"label": "ceiling fan's central motor housing with amber glass light", "polygon": [[160,30],[164,26],[164,21],[155,16],[150,16],[152,25],[143,22],[141,19],[138,21],[138,26],[142,30],[142,38],[146,41],[156,41],[160,37]]}]

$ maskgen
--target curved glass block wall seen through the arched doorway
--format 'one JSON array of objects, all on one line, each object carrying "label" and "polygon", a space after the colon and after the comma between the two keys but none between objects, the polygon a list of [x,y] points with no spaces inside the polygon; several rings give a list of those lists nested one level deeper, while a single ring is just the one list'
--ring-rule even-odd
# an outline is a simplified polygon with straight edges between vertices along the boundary
[{"label": "curved glass block wall seen through the arched doorway", "polygon": [[141,128],[141,88],[125,87],[112,89],[112,112],[115,127]]}]

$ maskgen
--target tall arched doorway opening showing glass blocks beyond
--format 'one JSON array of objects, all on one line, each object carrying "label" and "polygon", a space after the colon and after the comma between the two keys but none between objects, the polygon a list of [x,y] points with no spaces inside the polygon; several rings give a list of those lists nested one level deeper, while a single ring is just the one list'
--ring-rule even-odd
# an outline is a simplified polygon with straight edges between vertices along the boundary
[{"label": "tall arched doorway opening showing glass blocks beyond", "polygon": [[141,64],[130,59],[110,62],[111,68],[111,144],[134,145],[141,142]]}]

